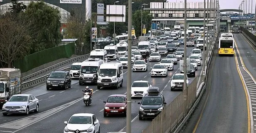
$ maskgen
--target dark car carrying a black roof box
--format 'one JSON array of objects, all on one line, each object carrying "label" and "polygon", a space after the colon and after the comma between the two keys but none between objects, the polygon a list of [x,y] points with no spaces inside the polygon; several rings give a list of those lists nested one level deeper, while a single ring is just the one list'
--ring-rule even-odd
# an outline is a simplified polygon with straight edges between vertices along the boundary
[{"label": "dark car carrying a black roof box", "polygon": [[[155,91],[158,89],[157,91]],[[153,90],[152,92],[150,92]],[[158,87],[150,87],[148,89],[148,94],[146,94],[140,104],[139,109],[139,120],[143,118],[155,118],[161,111],[165,108],[166,102],[165,97],[159,93]]]}]

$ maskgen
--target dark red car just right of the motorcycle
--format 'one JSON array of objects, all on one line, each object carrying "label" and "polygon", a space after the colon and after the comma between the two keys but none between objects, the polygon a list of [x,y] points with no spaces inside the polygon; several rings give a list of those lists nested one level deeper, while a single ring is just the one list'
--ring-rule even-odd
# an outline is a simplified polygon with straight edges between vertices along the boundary
[{"label": "dark red car just right of the motorcycle", "polygon": [[108,97],[107,101],[103,101],[106,103],[104,106],[103,115],[106,117],[107,115],[123,115],[126,116],[126,107],[127,107],[127,96],[123,94],[113,94]]}]

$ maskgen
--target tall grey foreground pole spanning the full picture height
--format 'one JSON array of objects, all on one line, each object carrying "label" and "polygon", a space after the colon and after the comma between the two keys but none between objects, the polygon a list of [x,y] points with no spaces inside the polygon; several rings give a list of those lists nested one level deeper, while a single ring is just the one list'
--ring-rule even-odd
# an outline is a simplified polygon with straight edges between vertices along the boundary
[{"label": "tall grey foreground pole spanning the full picture height", "polygon": [[128,69],[127,69],[127,110],[126,110],[126,133],[131,133],[131,80],[132,80],[132,0],[128,0]]}]

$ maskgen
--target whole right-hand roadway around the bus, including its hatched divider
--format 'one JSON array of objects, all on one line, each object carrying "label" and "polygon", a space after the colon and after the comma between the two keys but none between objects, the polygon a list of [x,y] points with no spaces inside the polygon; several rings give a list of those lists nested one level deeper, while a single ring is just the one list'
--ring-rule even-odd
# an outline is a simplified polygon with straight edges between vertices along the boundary
[{"label": "whole right-hand roadway around the bus, including its hatched divider", "polygon": [[[251,80],[251,86],[246,87],[246,77],[241,75],[246,71],[240,73],[239,68],[246,67],[255,78],[256,51],[242,34],[234,34],[234,39],[237,46],[234,57],[218,56],[215,47],[206,92],[182,133],[253,133],[251,125],[255,122],[251,116],[255,113],[250,106],[256,102],[256,86]],[[252,101],[247,92],[254,93]]]}]

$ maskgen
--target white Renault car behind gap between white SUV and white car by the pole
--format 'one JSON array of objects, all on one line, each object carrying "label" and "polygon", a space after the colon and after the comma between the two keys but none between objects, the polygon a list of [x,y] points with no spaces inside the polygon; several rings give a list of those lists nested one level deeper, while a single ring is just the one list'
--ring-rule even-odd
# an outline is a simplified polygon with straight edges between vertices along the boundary
[{"label": "white Renault car behind gap between white SUV and white car by the pole", "polygon": [[166,69],[165,65],[155,64],[151,70],[151,77],[153,76],[168,76],[168,70]]}]

